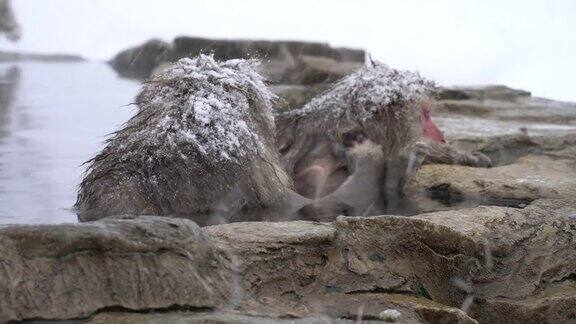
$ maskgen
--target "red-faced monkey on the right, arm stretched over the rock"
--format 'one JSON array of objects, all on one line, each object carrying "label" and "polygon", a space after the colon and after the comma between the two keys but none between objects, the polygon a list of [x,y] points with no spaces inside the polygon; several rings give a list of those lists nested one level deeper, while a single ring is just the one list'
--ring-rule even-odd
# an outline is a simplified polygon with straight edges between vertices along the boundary
[{"label": "red-faced monkey on the right, arm stretched over the rock", "polygon": [[[337,213],[333,209],[340,207],[352,208],[354,215],[381,212],[384,202],[366,197],[388,190],[389,180],[398,189],[423,162],[489,165],[485,156],[457,152],[445,143],[430,117],[435,91],[416,73],[371,62],[304,107],[277,115],[285,167],[296,191],[322,206],[314,213]],[[346,149],[347,142],[359,148]],[[419,158],[389,163],[410,152]]]}]

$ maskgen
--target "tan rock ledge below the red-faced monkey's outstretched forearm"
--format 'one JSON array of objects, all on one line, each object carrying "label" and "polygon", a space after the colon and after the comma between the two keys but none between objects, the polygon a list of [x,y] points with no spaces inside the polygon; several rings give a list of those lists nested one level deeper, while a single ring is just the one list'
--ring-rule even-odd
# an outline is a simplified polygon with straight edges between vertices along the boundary
[{"label": "tan rock ledge below the red-faced monkey's outstretched forearm", "polygon": [[[479,204],[525,206],[538,198],[576,196],[576,159],[567,152],[529,155],[494,168],[425,165],[409,184],[427,193],[418,199],[421,210]],[[476,201],[475,201],[476,200]]]}]

